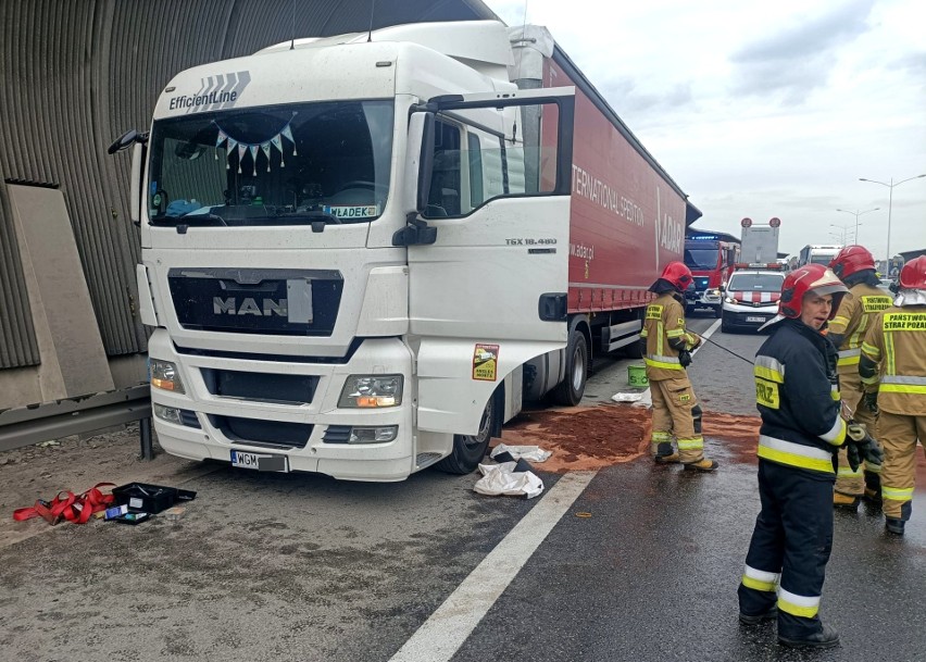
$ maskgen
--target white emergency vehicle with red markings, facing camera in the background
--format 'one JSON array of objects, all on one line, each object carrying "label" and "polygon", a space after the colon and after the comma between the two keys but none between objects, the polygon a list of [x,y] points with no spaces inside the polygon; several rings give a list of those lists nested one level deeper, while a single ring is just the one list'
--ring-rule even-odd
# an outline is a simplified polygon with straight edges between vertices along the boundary
[{"label": "white emergency vehicle with red markings, facing camera in the background", "polygon": [[724,288],[721,330],[758,329],[778,311],[785,272],[776,262],[743,264],[730,276]]}]

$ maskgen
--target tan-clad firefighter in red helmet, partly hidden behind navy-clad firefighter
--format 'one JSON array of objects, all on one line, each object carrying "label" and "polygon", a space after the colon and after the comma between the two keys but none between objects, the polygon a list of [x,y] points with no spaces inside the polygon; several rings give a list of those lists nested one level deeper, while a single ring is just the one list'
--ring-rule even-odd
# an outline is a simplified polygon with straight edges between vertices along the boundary
[{"label": "tan-clad firefighter in red helmet, partly hidden behind navy-clad firefighter", "polygon": [[[862,380],[859,377],[859,359],[862,354],[862,340],[876,313],[891,304],[891,297],[880,289],[880,280],[875,272],[875,259],[862,246],[847,246],[833,259],[829,268],[849,288],[836,316],[829,323],[827,337],[839,350],[839,392],[842,401],[854,412],[853,420],[863,424],[877,437],[876,416],[862,398]],[[833,503],[837,508],[858,510],[859,500],[866,496],[873,501],[880,500],[880,471],[877,464],[864,464],[852,469],[846,449],[839,451],[839,469],[836,472],[836,487]]]}]

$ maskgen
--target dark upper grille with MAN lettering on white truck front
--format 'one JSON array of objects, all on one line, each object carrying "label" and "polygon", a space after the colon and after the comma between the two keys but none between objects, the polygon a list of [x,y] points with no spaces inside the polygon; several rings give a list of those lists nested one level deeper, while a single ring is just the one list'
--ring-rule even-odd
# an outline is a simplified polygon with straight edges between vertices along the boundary
[{"label": "dark upper grille with MAN lettering on white truck front", "polygon": [[328,270],[172,268],[180,326],[277,336],[330,336],[343,277]]}]

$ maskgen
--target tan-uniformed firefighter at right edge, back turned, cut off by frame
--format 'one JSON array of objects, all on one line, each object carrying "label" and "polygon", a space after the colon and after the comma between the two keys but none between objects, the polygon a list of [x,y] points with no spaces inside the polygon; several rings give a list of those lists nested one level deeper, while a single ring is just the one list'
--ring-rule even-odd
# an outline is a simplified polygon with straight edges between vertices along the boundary
[{"label": "tan-uniformed firefighter at right edge, back turned, cut off by frame", "polygon": [[901,270],[893,305],[865,335],[859,373],[865,399],[880,412],[885,526],[902,536],[913,510],[916,439],[926,439],[926,255]]}]

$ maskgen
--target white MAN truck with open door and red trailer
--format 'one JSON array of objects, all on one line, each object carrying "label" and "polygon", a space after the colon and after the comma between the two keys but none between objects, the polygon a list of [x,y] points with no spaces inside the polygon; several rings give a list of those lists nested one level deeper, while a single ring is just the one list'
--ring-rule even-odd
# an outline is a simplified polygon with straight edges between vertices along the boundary
[{"label": "white MAN truck with open door and red trailer", "polygon": [[522,401],[639,351],[700,215],[542,27],[196,66],[128,147],[160,444],[262,471],[473,471]]}]

